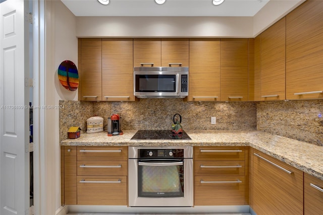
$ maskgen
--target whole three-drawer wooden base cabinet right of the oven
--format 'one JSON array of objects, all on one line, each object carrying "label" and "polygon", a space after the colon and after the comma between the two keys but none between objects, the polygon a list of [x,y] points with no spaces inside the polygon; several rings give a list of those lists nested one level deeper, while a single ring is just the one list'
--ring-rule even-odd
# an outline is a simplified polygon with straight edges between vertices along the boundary
[{"label": "whole three-drawer wooden base cabinet right of the oven", "polygon": [[195,205],[248,204],[244,146],[194,147]]}]

